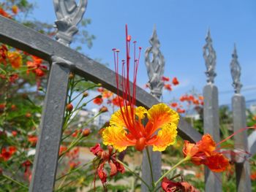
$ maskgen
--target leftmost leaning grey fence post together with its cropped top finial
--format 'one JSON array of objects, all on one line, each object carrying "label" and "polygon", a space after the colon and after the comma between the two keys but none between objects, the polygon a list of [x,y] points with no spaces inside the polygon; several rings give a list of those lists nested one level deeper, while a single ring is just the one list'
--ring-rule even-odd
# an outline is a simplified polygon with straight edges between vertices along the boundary
[{"label": "leftmost leaning grey fence post together with its cropped top finial", "polygon": [[[75,1],[53,0],[53,3],[58,18],[56,39],[69,46],[73,35],[78,32],[76,25],[83,17],[87,1],[80,0],[79,6]],[[52,61],[29,186],[31,192],[53,191],[58,166],[70,70],[67,66],[70,66],[70,62],[54,55]]]}]

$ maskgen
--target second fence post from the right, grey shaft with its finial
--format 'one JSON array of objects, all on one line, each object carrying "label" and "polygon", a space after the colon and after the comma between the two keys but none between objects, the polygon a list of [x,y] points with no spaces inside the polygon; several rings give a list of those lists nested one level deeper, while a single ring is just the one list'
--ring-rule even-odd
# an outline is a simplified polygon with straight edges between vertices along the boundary
[{"label": "second fence post from the right, grey shaft with its finial", "polygon": [[[219,101],[218,88],[214,85],[214,77],[216,77],[216,53],[212,46],[210,30],[206,36],[206,45],[203,46],[203,58],[206,62],[207,85],[203,88],[203,128],[205,134],[211,134],[216,142],[219,142]],[[205,167],[205,184],[206,192],[222,191],[222,183],[219,178],[221,174],[216,174]]]}]

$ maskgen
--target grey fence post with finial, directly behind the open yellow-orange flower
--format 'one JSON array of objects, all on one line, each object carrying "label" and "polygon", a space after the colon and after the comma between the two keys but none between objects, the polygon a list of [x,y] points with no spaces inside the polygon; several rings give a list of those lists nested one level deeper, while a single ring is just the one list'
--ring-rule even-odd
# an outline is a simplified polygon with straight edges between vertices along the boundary
[{"label": "grey fence post with finial, directly behind the open yellow-orange flower", "polygon": [[[151,47],[148,47],[145,53],[146,68],[148,72],[148,85],[151,90],[151,94],[157,99],[162,96],[162,88],[164,83],[162,82],[162,75],[165,68],[165,59],[159,50],[160,42],[157,38],[157,30],[154,26],[154,31],[151,39],[149,40]],[[152,54],[152,57],[151,57]],[[152,162],[152,169],[154,174],[154,181],[161,177],[161,166],[162,166],[162,153],[159,151],[153,152],[152,147],[149,147],[149,156]],[[146,150],[143,150],[143,162],[142,162],[142,178],[151,186],[151,173],[148,164],[148,157]],[[141,191],[147,192],[146,185],[142,183]]]}]

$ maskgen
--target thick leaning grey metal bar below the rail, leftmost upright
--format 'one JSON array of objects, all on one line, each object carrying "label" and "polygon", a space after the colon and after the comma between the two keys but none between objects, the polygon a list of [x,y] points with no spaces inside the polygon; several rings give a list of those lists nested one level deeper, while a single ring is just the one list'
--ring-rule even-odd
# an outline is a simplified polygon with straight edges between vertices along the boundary
[{"label": "thick leaning grey metal bar below the rail, leftmost upright", "polygon": [[42,112],[42,121],[29,191],[51,192],[54,188],[59,158],[69,69],[53,63]]}]

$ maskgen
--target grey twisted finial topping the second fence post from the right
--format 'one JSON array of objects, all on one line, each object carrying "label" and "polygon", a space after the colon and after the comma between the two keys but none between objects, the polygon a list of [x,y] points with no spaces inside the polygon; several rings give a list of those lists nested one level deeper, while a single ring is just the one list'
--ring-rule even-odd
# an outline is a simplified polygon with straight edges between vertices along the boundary
[{"label": "grey twisted finial topping the second fence post from the right", "polygon": [[214,77],[217,76],[215,73],[216,66],[216,53],[212,46],[211,32],[208,29],[206,36],[206,45],[203,46],[203,58],[206,61],[206,76],[208,77],[208,83],[214,83]]}]

